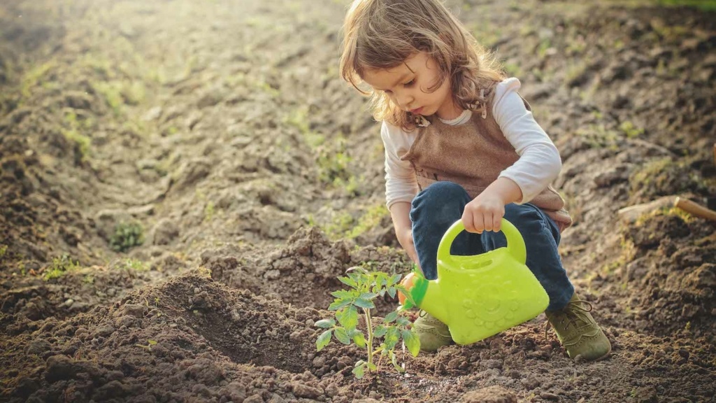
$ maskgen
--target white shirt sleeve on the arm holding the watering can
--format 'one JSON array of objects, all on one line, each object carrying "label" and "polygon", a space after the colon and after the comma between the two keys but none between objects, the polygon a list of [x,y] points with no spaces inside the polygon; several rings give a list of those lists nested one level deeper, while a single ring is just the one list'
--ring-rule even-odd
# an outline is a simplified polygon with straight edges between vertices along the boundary
[{"label": "white shirt sleeve on the arm holding the watering can", "polygon": [[515,181],[522,191],[522,200],[518,204],[523,204],[557,179],[562,161],[556,146],[517,93],[520,86],[516,78],[509,78],[497,85],[493,116],[505,138],[520,156],[498,177]]}]

